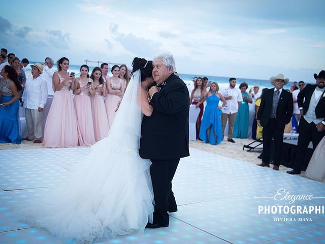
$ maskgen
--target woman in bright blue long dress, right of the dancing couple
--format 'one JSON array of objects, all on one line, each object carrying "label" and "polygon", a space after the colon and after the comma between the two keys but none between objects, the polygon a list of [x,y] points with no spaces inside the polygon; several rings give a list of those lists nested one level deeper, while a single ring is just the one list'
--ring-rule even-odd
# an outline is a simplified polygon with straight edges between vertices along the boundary
[{"label": "woman in bright blue long dress, right of the dancing couple", "polygon": [[[211,145],[219,144],[222,141],[221,109],[226,105],[225,99],[219,91],[217,82],[212,82],[209,92],[205,94],[207,106],[205,107],[200,127],[200,138]],[[222,106],[219,106],[219,101]]]}]

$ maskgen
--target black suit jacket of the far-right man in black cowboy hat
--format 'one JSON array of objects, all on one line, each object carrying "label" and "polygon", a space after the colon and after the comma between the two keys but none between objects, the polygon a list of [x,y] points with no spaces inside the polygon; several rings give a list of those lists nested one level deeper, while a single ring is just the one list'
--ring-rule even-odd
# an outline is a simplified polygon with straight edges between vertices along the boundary
[{"label": "black suit jacket of the far-right man in black cowboy hat", "polygon": [[[303,108],[304,115],[307,113],[311,96],[314,93],[314,90],[316,89],[317,85],[311,85],[308,84],[304,89],[302,89],[298,94],[298,107]],[[304,102],[305,99],[305,102]],[[321,98],[319,99],[317,106],[315,108],[315,114],[316,118],[323,118],[325,117],[325,97],[324,93],[321,95]],[[323,120],[325,121],[325,119]]]}]

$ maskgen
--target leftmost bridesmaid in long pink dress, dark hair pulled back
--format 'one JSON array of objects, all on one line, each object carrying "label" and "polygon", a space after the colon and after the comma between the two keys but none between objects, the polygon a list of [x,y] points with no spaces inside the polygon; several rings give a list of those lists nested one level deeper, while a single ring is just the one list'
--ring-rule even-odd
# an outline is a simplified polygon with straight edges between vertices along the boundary
[{"label": "leftmost bridesmaid in long pink dress, dark hair pulled back", "polygon": [[44,146],[73,147],[78,145],[77,119],[70,89],[74,89],[74,76],[67,71],[69,59],[57,62],[57,72],[52,79],[55,91],[44,129]]}]

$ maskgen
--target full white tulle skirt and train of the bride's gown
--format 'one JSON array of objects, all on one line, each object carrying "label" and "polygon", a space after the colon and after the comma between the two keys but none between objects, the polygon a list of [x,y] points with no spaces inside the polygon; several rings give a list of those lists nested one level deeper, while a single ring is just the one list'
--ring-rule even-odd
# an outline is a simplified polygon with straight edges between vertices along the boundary
[{"label": "full white tulle skirt and train of the bride's gown", "polygon": [[116,145],[109,137],[96,143],[63,190],[19,203],[14,215],[78,242],[142,233],[154,210],[151,162]]}]

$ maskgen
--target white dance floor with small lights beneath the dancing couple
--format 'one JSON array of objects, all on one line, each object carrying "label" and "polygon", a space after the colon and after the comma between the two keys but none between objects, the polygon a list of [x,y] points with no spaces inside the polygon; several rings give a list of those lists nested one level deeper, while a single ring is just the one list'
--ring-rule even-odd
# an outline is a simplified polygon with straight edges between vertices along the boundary
[{"label": "white dance floor with small lights beneath the dancing couple", "polygon": [[[89,150],[0,150],[0,243],[74,243],[19,222],[9,209],[14,202],[60,185]],[[171,214],[168,228],[96,243],[325,243],[324,213],[258,213],[265,205],[324,206],[325,184],[193,148],[190,153],[180,161],[173,180],[178,212]],[[292,204],[276,200],[279,189],[291,195],[312,194],[313,199]]]}]

